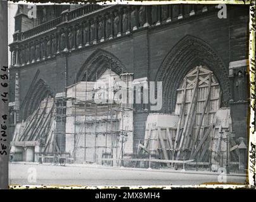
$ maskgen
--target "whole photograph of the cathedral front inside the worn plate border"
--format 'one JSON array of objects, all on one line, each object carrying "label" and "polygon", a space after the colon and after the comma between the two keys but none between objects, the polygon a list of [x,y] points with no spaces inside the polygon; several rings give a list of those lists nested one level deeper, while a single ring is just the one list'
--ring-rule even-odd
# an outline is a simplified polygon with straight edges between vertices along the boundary
[{"label": "whole photograph of the cathedral front inside the worn plate border", "polygon": [[10,186],[248,184],[248,4],[8,4]]}]

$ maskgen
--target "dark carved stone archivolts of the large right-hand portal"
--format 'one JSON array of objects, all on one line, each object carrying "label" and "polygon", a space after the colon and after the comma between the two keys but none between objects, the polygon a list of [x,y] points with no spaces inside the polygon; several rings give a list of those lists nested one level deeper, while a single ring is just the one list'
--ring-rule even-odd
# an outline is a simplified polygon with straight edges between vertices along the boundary
[{"label": "dark carved stone archivolts of the large right-hand portal", "polygon": [[207,66],[217,77],[222,90],[221,106],[227,106],[230,99],[230,86],[224,62],[206,42],[186,35],[167,54],[155,78],[155,81],[163,82],[162,112],[174,111],[179,84],[189,70],[200,65]]}]

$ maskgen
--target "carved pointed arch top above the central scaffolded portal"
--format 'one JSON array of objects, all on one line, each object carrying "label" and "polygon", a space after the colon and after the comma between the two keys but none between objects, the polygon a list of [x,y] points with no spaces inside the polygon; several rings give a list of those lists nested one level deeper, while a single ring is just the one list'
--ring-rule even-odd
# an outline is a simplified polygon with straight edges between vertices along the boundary
[{"label": "carved pointed arch top above the central scaffolded portal", "polygon": [[77,81],[86,81],[86,71],[87,81],[96,81],[96,75],[99,78],[106,69],[111,69],[118,75],[127,73],[127,69],[125,69],[122,62],[112,53],[102,49],[95,50],[77,73]]}]

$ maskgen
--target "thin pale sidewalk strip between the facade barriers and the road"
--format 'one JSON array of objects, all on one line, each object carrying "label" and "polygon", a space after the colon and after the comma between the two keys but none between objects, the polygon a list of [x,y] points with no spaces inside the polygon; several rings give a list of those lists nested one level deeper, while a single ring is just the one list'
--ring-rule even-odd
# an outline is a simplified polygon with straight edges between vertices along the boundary
[{"label": "thin pale sidewalk strip between the facade barriers and the road", "polygon": [[[25,165],[53,165],[53,163],[38,163],[38,162],[10,162],[13,164],[25,164]],[[53,166],[60,166],[53,165]],[[179,174],[200,174],[200,175],[219,175],[219,172],[210,172],[210,171],[196,171],[196,170],[174,170],[174,169],[141,169],[141,168],[131,168],[131,167],[108,167],[105,165],[98,164],[89,164],[89,163],[66,163],[65,167],[86,167],[86,168],[94,168],[94,169],[117,169],[117,170],[138,170],[145,172],[170,172],[170,173],[179,173]],[[228,176],[235,177],[246,177],[246,174],[236,174],[231,173],[227,174]]]}]

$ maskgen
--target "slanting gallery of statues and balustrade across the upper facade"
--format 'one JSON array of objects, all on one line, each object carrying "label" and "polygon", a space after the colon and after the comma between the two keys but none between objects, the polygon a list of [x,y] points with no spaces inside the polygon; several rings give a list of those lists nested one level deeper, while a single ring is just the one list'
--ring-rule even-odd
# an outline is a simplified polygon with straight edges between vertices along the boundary
[{"label": "slanting gallery of statues and balustrade across the upper facade", "polygon": [[114,5],[100,8],[83,6],[63,11],[59,18],[13,35],[10,44],[11,66],[23,66],[51,59],[106,40],[113,40],[145,27],[157,27],[172,21],[214,10],[205,5]]}]

